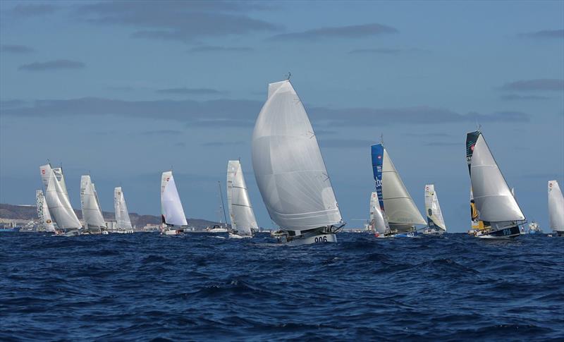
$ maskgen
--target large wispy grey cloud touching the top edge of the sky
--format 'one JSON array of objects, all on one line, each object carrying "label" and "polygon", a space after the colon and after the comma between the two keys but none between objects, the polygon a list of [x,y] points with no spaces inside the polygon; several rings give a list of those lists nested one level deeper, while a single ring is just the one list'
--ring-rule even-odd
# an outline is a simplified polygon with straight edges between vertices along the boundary
[{"label": "large wispy grey cloud touching the top edge of the sky", "polygon": [[193,42],[197,37],[279,30],[279,25],[244,13],[263,9],[243,1],[104,1],[80,6],[74,14],[87,23],[136,28],[135,38]]}]

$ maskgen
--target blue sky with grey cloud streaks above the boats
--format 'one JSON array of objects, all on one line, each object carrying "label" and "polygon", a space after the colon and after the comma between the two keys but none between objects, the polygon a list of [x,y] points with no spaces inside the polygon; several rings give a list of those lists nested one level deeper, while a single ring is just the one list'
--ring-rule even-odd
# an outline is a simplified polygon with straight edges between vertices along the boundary
[{"label": "blue sky with grey cloud streaks above the boats", "polygon": [[[381,135],[424,212],[470,228],[465,136],[482,126],[529,221],[548,231],[564,185],[563,1],[0,1],[0,202],[35,204],[62,164],[73,207],[90,173],[102,209],[160,214],[173,170],[185,213],[219,219],[239,159],[272,227],[251,137],[286,78],[317,135],[348,227],[368,217]],[[225,191],[223,190],[225,196]]]}]

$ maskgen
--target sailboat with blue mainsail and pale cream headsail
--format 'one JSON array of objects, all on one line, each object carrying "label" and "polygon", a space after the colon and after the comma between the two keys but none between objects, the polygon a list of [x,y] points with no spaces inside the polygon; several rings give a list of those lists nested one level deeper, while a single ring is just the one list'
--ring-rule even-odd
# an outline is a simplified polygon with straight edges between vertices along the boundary
[{"label": "sailboat with blue mainsail and pale cream headsail", "polygon": [[391,235],[397,238],[417,236],[416,224],[427,224],[407,193],[396,166],[384,145],[372,145],[372,171],[382,215],[388,220]]}]

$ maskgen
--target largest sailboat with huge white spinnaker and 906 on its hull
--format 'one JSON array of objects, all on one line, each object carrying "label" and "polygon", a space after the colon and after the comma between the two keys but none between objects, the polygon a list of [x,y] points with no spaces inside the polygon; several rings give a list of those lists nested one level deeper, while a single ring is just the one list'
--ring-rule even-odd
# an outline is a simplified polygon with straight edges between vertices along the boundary
[{"label": "largest sailboat with huge white spinnaker and 906 on its hull", "polygon": [[290,80],[269,84],[252,133],[262,200],[290,245],[336,242],[345,225],[312,124]]}]

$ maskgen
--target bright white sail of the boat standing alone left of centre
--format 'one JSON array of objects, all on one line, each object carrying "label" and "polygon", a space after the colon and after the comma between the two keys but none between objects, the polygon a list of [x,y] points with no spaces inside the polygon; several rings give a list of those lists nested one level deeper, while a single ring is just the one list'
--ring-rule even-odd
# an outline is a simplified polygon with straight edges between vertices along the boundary
[{"label": "bright white sail of the boat standing alone left of centre", "polygon": [[188,225],[172,171],[163,172],[161,178],[161,215],[165,224],[173,226]]}]

